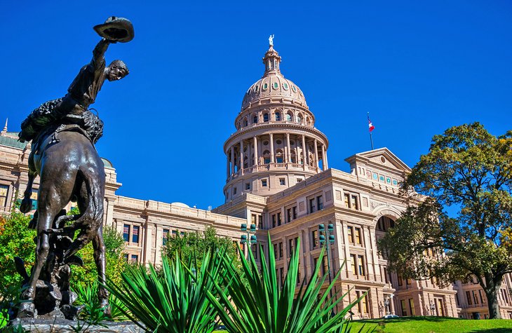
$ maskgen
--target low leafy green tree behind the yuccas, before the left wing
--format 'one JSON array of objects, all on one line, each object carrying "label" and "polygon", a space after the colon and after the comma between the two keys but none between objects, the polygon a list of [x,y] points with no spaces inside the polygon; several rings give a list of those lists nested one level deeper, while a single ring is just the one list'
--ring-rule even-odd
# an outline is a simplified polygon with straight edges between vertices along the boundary
[{"label": "low leafy green tree behind the yuccas, before the left wing", "polygon": [[202,232],[189,232],[183,235],[168,235],[166,245],[162,247],[162,254],[169,259],[175,259],[176,254],[182,260],[187,260],[193,256],[196,258],[198,269],[201,266],[203,255],[210,250],[214,252],[216,250],[226,249],[226,254],[235,258],[236,264],[240,266],[238,260],[238,250],[234,245],[233,240],[229,237],[217,236],[217,230],[213,226],[207,226]]}]

